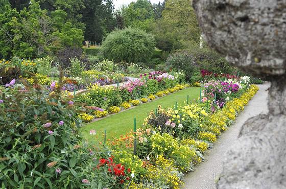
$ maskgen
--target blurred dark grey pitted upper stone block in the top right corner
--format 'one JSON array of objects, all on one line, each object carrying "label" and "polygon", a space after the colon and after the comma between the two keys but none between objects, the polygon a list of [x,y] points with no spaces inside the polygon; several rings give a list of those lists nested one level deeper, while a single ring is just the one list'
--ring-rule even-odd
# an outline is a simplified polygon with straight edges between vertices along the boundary
[{"label": "blurred dark grey pitted upper stone block in the top right corner", "polygon": [[286,0],[194,0],[209,45],[247,72],[285,74]]}]

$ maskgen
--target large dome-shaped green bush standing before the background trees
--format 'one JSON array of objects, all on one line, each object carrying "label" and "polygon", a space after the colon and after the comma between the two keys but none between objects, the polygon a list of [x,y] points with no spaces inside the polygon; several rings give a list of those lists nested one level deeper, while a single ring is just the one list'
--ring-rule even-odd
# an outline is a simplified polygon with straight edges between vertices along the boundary
[{"label": "large dome-shaped green bush standing before the background trees", "polygon": [[116,62],[144,62],[154,50],[154,37],[133,28],[115,30],[107,35],[101,46],[104,57]]}]

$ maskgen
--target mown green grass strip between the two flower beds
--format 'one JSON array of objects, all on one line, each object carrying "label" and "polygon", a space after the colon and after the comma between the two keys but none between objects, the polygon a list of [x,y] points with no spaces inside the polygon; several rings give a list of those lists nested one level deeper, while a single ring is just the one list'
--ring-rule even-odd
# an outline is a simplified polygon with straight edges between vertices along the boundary
[{"label": "mown green grass strip between the two flower beds", "polygon": [[[189,100],[193,100],[200,96],[200,87],[189,87],[178,92],[167,95],[163,98],[157,99],[153,102],[141,104],[135,108],[123,111],[106,117],[105,119],[97,122],[89,123],[82,128],[84,137],[88,140],[103,140],[104,130],[107,130],[107,138],[118,137],[121,134],[126,134],[134,128],[134,117],[136,117],[136,125],[139,128],[144,119],[147,117],[148,112],[155,110],[158,105],[163,108],[171,107],[176,102],[183,104],[189,95]],[[97,131],[96,135],[90,135],[89,131],[94,129]]]}]

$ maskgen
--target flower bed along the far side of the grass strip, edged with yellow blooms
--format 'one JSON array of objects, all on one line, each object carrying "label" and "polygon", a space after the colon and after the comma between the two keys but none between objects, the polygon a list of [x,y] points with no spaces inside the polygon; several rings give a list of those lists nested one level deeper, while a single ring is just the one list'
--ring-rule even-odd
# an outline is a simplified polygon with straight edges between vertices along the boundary
[{"label": "flower bed along the far side of the grass strip, edged with yellow blooms", "polygon": [[[94,84],[89,86],[86,91],[78,93],[76,101],[81,103],[82,106],[100,107],[102,110],[108,110],[109,113],[118,113],[120,110],[138,106],[141,103],[147,103],[148,100],[153,101],[156,98],[169,94],[169,92],[165,93],[164,90],[175,92],[189,86],[188,84],[178,84],[178,80],[174,76],[164,74],[159,74],[158,77],[154,78],[141,78],[129,81],[121,87],[102,87]],[[167,88],[168,86],[171,88]],[[90,108],[87,108],[85,113],[89,115],[100,114],[100,112],[95,112]],[[100,114],[95,118],[103,116]],[[87,116],[85,115],[85,117]],[[85,122],[87,122],[87,119],[85,119]]]}]

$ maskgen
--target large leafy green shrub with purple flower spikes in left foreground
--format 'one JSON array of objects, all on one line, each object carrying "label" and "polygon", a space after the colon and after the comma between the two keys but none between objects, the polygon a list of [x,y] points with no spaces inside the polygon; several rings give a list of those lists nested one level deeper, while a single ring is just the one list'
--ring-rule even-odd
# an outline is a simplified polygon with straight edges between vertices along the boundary
[{"label": "large leafy green shrub with purple flower spikes in left foreground", "polygon": [[43,88],[0,96],[2,188],[83,188],[93,179],[71,99]]}]

